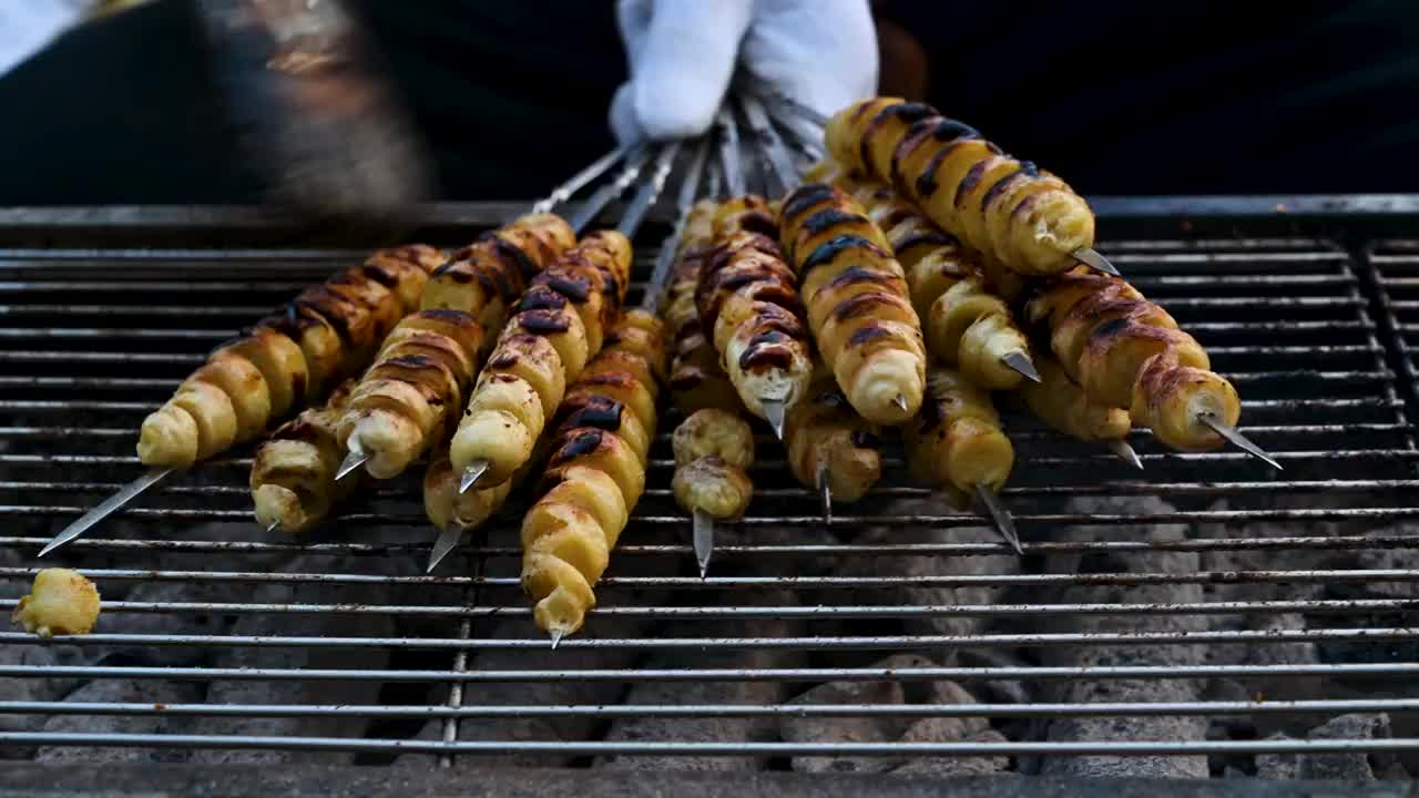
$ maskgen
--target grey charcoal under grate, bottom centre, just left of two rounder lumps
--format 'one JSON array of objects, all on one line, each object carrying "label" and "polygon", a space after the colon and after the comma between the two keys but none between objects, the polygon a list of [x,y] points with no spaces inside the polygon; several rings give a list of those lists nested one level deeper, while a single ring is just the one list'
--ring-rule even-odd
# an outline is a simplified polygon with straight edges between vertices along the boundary
[{"label": "grey charcoal under grate, bottom centre, just left of two rounder lumps", "polygon": [[[728,596],[727,596],[728,599]],[[773,591],[761,603],[785,606],[796,601],[789,591]],[[667,638],[789,638],[806,632],[803,622],[759,618],[746,622],[680,622],[666,625]],[[802,667],[802,652],[715,649],[653,655],[648,669],[783,669]],[[631,686],[627,704],[778,704],[788,697],[780,682],[643,682]],[[742,743],[778,740],[778,723],[771,717],[639,717],[612,723],[610,741],[674,740],[688,743]],[[758,771],[766,763],[755,757],[606,757],[593,767],[630,771]]]}]

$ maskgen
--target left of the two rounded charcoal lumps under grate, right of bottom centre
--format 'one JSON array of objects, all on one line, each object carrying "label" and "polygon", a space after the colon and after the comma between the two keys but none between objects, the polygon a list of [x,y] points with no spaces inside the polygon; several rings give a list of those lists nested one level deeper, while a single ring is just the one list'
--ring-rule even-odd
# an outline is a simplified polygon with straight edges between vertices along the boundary
[{"label": "left of the two rounded charcoal lumps under grate, right of bottom centre", "polygon": [[[932,667],[920,655],[895,655],[873,667]],[[901,682],[829,682],[792,699],[790,704],[907,704]],[[779,736],[789,743],[891,743],[911,726],[904,717],[782,717]],[[793,757],[802,772],[883,772],[900,757]]]}]

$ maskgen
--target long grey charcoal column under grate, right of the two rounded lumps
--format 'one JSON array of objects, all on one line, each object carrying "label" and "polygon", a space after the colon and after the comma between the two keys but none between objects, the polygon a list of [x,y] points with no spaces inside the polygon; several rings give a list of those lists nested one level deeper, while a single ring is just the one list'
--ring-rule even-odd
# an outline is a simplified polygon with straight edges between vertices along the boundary
[{"label": "long grey charcoal column under grate, right of the two rounded lumps", "polygon": [[[1070,513],[1171,513],[1172,505],[1155,497],[1077,497],[1067,503]],[[1138,525],[1111,528],[1110,538],[1132,541],[1171,541],[1186,535],[1179,525]],[[1097,531],[1067,528],[1056,532],[1063,540],[1091,540]],[[1165,572],[1198,571],[1196,554],[1178,551],[1127,552],[1080,557],[1063,554],[1050,557],[1047,568],[1059,574],[1090,572]],[[1202,589],[1193,584],[1179,585],[1070,585],[1051,595],[1051,601],[1069,603],[1198,603]],[[1176,633],[1203,632],[1210,628],[1205,615],[1081,615],[1050,616],[1047,632],[1081,633]],[[1151,645],[1081,645],[1054,646],[1046,650],[1046,665],[1057,666],[1120,666],[1164,665],[1192,666],[1206,662],[1206,646],[1191,643]],[[1050,700],[1066,703],[1100,701],[1196,701],[1205,684],[1192,679],[1051,682],[1046,689]],[[1200,717],[1066,717],[1054,720],[1047,738],[1054,741],[1111,741],[1111,740],[1169,740],[1202,741],[1208,737],[1208,720]],[[1206,757],[1050,757],[1040,764],[1046,775],[1074,777],[1148,777],[1148,778],[1208,778]]]}]

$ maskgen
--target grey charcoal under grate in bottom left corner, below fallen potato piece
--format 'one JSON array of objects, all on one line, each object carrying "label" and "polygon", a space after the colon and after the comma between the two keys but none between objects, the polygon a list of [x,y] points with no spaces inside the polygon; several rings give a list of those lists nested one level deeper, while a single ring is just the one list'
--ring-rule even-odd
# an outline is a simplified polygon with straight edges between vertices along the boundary
[{"label": "grey charcoal under grate in bottom left corner, below fallen potato piece", "polygon": [[[156,679],[98,679],[70,693],[65,703],[125,703],[125,704],[193,704],[201,701],[201,686],[189,682]],[[51,734],[187,734],[189,718],[182,716],[105,716],[55,714],[44,723]],[[109,763],[186,763],[186,748],[126,748],[126,747],[68,747],[44,745],[35,754],[41,763],[109,764]]]}]

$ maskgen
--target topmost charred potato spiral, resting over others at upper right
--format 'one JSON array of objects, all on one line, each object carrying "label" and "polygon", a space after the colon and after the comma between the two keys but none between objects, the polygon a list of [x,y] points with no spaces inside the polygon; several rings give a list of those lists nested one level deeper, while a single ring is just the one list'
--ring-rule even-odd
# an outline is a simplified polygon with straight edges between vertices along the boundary
[{"label": "topmost charred potato spiral, resting over others at upper right", "polygon": [[827,151],[897,189],[972,250],[1023,275],[1059,274],[1094,246],[1094,213],[1063,180],[935,108],[878,97],[833,115]]}]

